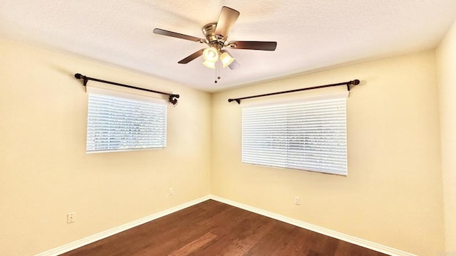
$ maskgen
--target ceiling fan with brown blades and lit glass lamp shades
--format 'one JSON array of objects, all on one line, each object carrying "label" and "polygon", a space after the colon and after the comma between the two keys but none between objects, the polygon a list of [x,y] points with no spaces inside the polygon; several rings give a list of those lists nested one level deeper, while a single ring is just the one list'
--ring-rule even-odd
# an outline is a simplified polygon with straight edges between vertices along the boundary
[{"label": "ceiling fan with brown blades and lit glass lamp shades", "polygon": [[183,58],[178,63],[187,64],[195,60],[199,56],[203,56],[204,62],[202,63],[207,68],[215,68],[217,60],[221,60],[223,68],[227,66],[234,70],[239,68],[239,63],[234,60],[233,56],[225,48],[230,49],[247,49],[247,50],[276,50],[277,42],[273,41],[229,41],[229,31],[231,30],[234,22],[239,17],[239,11],[231,9],[227,6],[222,7],[219,20],[217,22],[208,23],[202,27],[204,38],[197,38],[195,36],[187,36],[182,33],[167,31],[161,28],[155,28],[154,33],[163,36],[172,36],[175,38],[182,38],[185,40],[195,41],[197,43],[206,43],[208,48],[202,48],[195,53]]}]

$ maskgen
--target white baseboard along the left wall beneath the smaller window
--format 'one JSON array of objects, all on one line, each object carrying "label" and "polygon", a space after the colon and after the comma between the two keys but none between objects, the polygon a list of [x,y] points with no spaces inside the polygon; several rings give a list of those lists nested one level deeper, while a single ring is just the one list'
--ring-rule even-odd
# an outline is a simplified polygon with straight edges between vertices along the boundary
[{"label": "white baseboard along the left wall beneath the smaller window", "polygon": [[190,202],[182,203],[179,206],[175,206],[175,207],[172,207],[172,208],[169,208],[169,209],[166,209],[166,210],[162,210],[162,211],[160,211],[158,213],[154,213],[152,215],[148,215],[148,216],[146,216],[144,218],[140,218],[138,220],[133,220],[130,223],[125,223],[125,224],[120,225],[118,227],[111,228],[109,230],[105,230],[103,232],[97,233],[95,235],[90,235],[87,238],[83,238],[83,239],[80,239],[80,240],[76,240],[74,242],[70,242],[70,243],[68,243],[66,245],[62,245],[60,247],[56,247],[56,248],[54,248],[52,250],[48,250],[46,252],[41,252],[40,254],[38,254],[36,256],[61,255],[62,253],[69,252],[69,251],[74,250],[74,249],[76,249],[78,247],[82,247],[84,245],[88,245],[91,242],[95,242],[95,241],[101,240],[103,238],[108,238],[111,235],[115,235],[117,233],[120,233],[122,231],[128,230],[130,228],[135,228],[136,226],[144,224],[144,223],[147,223],[150,220],[155,220],[157,218],[161,218],[161,217],[163,217],[165,215],[168,215],[168,214],[171,214],[171,213],[175,213],[178,210],[182,210],[182,209],[185,209],[187,207],[194,206],[194,205],[196,205],[198,203],[202,203],[202,202],[207,201],[209,199],[210,199],[209,195],[208,196],[203,196],[202,198],[197,198],[197,199],[192,200]]}]

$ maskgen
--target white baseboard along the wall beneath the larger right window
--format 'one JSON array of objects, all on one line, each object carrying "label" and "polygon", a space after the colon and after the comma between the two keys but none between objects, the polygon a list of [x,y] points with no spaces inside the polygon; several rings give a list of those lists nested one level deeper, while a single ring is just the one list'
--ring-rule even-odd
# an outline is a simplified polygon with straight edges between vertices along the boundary
[{"label": "white baseboard along the wall beneath the larger right window", "polygon": [[321,228],[321,227],[319,227],[317,225],[306,223],[306,222],[301,221],[301,220],[296,220],[294,218],[289,218],[289,217],[286,217],[284,215],[271,213],[271,212],[269,212],[267,210],[261,210],[259,208],[255,208],[255,207],[252,207],[252,206],[247,206],[247,205],[244,205],[242,203],[237,203],[235,201],[231,201],[231,200],[228,200],[228,199],[225,199],[225,198],[221,198],[219,196],[211,195],[210,198],[215,200],[215,201],[219,201],[221,203],[227,203],[230,206],[234,206],[234,207],[241,208],[241,209],[244,209],[244,210],[249,210],[249,211],[251,211],[253,213],[258,213],[260,215],[264,215],[266,217],[273,218],[275,220],[283,221],[284,223],[289,223],[291,225],[296,225],[296,226],[298,226],[300,228],[305,228],[307,230],[311,230],[311,231],[314,231],[316,233],[320,233],[320,234],[323,234],[323,235],[328,235],[331,238],[336,238],[338,240],[343,240],[343,241],[346,241],[346,242],[350,242],[352,244],[359,245],[359,246],[362,246],[362,247],[366,247],[368,249],[375,250],[377,252],[382,252],[382,253],[385,253],[385,254],[388,254],[388,255],[392,255],[392,256],[416,256],[416,255],[411,254],[409,252],[403,252],[401,250],[396,250],[394,248],[391,248],[391,247],[388,247],[388,246],[385,246],[385,245],[379,245],[378,243],[375,243],[375,242],[370,242],[368,240],[363,240],[361,238],[356,238],[356,237],[353,237],[351,235],[346,235],[346,234],[339,233],[339,232],[336,232],[336,231],[333,231],[333,230],[328,230],[327,228]]}]

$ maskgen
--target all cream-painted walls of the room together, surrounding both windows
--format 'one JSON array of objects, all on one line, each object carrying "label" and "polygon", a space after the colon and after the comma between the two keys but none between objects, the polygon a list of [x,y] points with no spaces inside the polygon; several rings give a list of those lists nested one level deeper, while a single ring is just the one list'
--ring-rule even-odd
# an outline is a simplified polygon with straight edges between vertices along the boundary
[{"label": "all cream-painted walls of the room together, surrounding both windows", "polygon": [[[0,255],[33,255],[209,193],[418,255],[455,250],[455,31],[437,65],[429,51],[212,96],[0,40]],[[86,154],[87,94],[74,73],[180,93],[167,149]],[[241,164],[241,107],[228,98],[353,79],[348,177]]]}]

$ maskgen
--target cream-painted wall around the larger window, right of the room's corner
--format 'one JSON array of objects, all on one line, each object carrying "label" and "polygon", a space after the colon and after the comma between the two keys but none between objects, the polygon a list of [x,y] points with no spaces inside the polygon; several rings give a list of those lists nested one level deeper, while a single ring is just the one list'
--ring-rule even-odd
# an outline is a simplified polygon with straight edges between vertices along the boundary
[{"label": "cream-painted wall around the larger window, right of the room's corner", "polygon": [[[435,67],[435,53],[428,51],[214,94],[212,193],[398,250],[437,255],[444,228]],[[241,107],[227,99],[353,79],[361,85],[347,101],[348,177],[241,163]],[[344,87],[300,95],[330,90]]]}]

